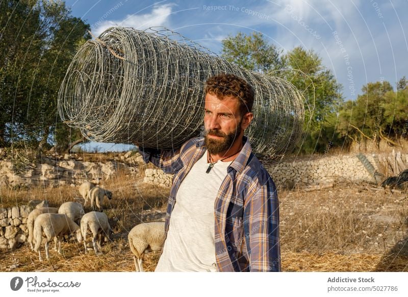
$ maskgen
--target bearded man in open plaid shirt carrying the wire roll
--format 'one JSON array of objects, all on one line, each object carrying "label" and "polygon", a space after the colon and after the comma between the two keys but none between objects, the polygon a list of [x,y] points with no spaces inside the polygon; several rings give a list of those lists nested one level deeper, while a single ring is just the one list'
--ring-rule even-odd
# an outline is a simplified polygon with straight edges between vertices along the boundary
[{"label": "bearded man in open plaid shirt carrying the wire roll", "polygon": [[204,137],[177,151],[139,147],[174,174],[156,271],[280,271],[276,187],[244,136],[254,91],[221,74],[205,93]]}]

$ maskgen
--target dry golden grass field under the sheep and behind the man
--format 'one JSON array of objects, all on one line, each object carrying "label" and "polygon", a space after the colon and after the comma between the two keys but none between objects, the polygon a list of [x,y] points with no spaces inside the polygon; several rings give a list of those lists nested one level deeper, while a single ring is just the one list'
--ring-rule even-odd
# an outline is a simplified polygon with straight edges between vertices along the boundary
[{"label": "dry golden grass field under the sheep and behind the man", "polygon": [[[163,219],[169,194],[169,188],[141,180],[119,176],[102,185],[114,193],[104,204],[115,232],[113,241],[103,245],[103,255],[85,254],[83,244],[71,241],[62,244],[62,255],[50,249],[50,260],[39,262],[38,254],[22,245],[2,251],[0,271],[134,271],[127,233],[142,221]],[[58,207],[82,202],[79,196],[78,188],[70,186],[0,189],[1,207],[33,199]],[[342,183],[316,191],[278,189],[278,196],[284,271],[408,271],[406,190],[392,193]],[[159,257],[146,254],[145,271],[154,271]]]}]

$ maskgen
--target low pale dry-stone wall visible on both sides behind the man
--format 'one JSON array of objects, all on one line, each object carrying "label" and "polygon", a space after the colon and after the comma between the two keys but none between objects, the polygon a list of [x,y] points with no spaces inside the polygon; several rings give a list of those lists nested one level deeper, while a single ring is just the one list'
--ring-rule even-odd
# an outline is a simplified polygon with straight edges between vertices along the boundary
[{"label": "low pale dry-stone wall visible on both sides behind the man", "polygon": [[[371,154],[365,155],[375,171],[390,175],[388,163],[393,163],[392,158],[399,156],[398,170],[391,170],[391,175],[398,174],[399,170],[408,168],[408,154]],[[388,158],[388,159],[387,159]],[[391,161],[390,161],[391,159]],[[321,156],[313,160],[282,161],[266,166],[277,186],[293,187],[295,185],[329,184],[337,181],[375,182],[373,175],[368,172],[356,155],[346,156]],[[146,169],[145,183],[159,186],[171,185],[172,175],[164,174],[161,169]]]}]

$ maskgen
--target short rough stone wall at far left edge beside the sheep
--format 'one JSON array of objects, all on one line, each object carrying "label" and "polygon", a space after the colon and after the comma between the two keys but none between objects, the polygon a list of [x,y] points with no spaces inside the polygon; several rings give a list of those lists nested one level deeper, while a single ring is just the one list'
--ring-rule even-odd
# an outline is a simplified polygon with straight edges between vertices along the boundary
[{"label": "short rough stone wall at far left edge beside the sheep", "polygon": [[28,238],[28,205],[0,208],[0,249],[14,249]]}]

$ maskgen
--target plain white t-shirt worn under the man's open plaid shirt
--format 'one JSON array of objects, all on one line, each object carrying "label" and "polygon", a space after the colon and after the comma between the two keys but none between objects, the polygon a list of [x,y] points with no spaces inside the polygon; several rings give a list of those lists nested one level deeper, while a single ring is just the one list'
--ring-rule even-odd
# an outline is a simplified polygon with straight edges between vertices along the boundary
[{"label": "plain white t-shirt worn under the man's open plaid shirt", "polygon": [[230,162],[206,173],[208,152],[193,165],[176,194],[169,230],[155,271],[216,271],[214,202]]}]

